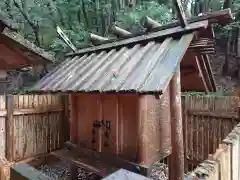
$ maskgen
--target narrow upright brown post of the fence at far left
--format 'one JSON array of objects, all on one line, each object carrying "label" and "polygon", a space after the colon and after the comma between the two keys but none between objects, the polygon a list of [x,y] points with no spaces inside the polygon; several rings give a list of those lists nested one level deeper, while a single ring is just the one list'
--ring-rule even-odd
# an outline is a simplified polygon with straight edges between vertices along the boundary
[{"label": "narrow upright brown post of the fence at far left", "polygon": [[6,95],[6,158],[9,161],[13,160],[13,146],[14,146],[14,127],[13,127],[13,110],[14,99],[13,95]]}]

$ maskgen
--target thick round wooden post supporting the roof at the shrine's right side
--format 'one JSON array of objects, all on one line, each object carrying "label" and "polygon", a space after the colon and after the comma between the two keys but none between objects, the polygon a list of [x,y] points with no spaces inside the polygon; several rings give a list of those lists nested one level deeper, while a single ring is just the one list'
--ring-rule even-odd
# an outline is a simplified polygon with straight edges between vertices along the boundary
[{"label": "thick round wooden post supporting the roof at the shrine's right side", "polygon": [[184,179],[184,148],[180,67],[177,68],[170,82],[170,110],[172,154],[170,156],[169,179],[182,180]]}]

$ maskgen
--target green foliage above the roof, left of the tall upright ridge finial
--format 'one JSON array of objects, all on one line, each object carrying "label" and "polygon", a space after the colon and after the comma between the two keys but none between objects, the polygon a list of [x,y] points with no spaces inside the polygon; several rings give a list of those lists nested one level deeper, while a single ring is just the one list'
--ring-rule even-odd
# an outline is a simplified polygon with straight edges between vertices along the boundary
[{"label": "green foliage above the roof, left of the tall upright ridge finial", "polygon": [[0,10],[19,25],[19,32],[24,37],[58,53],[69,49],[59,39],[56,26],[60,26],[73,44],[81,48],[89,44],[88,32],[108,35],[112,23],[136,32],[144,15],[161,23],[171,20],[169,3],[137,2],[129,8],[118,0],[2,0]]}]

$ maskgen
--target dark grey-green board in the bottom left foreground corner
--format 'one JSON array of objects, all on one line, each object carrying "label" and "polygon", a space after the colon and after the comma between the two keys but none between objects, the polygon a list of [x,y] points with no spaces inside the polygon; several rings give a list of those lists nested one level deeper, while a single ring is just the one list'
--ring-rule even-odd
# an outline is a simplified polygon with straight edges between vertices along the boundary
[{"label": "dark grey-green board in the bottom left foreground corner", "polygon": [[53,180],[53,178],[27,164],[19,164],[11,168],[11,180]]}]

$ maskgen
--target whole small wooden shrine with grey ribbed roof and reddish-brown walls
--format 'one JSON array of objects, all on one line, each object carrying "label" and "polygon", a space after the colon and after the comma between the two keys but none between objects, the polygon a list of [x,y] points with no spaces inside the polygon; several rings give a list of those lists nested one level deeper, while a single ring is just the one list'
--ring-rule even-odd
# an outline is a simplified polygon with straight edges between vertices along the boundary
[{"label": "whole small wooden shrine with grey ribbed roof and reddish-brown walls", "polygon": [[106,176],[118,168],[149,175],[171,154],[171,179],[183,178],[181,89],[215,91],[205,58],[214,52],[210,27],[232,16],[225,10],[187,21],[179,14],[178,23],[135,36],[113,27],[125,34],[118,41],[91,35],[100,45],[67,54],[31,89],[70,94],[69,150],[54,155]]}]

